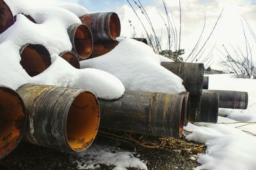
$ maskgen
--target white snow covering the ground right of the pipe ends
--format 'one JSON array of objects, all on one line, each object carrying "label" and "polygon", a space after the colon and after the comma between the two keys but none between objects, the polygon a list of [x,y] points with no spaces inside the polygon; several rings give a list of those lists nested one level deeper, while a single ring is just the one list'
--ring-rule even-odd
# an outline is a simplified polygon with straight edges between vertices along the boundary
[{"label": "white snow covering the ground right of the pipe ends", "polygon": [[[247,110],[220,109],[218,124],[188,124],[186,139],[205,143],[205,154],[196,169],[255,169],[256,167],[256,80],[216,74],[209,78],[209,89],[248,92]],[[246,123],[248,122],[248,123]],[[191,133],[189,133],[189,132]]]}]

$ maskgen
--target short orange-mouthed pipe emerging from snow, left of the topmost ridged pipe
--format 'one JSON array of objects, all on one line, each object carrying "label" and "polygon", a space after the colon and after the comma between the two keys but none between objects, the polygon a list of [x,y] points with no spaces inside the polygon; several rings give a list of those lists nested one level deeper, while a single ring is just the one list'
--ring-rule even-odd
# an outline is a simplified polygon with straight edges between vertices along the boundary
[{"label": "short orange-mouthed pipe emerging from snow, left of the topmost ridged pipe", "polygon": [[84,24],[68,27],[68,36],[72,43],[72,51],[79,60],[88,59],[93,50],[93,37],[90,29]]}]

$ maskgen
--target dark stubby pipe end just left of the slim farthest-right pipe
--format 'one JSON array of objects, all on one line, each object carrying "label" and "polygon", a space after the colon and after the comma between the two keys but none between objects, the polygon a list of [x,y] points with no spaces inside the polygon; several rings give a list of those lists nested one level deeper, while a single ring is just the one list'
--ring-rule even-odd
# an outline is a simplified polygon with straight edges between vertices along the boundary
[{"label": "dark stubby pipe end just left of the slim farthest-right pipe", "polygon": [[202,92],[200,102],[200,116],[197,122],[218,122],[219,98],[219,94],[216,92]]}]

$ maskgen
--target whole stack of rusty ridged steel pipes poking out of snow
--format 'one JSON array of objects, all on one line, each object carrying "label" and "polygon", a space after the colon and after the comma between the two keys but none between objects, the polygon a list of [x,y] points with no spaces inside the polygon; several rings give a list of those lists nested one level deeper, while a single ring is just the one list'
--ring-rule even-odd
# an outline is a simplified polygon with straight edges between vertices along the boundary
[{"label": "whole stack of rusty ridged steel pipes poking out of snow", "polygon": [[[16,17],[3,0],[0,0],[0,8],[3,10],[0,13],[1,33],[15,22]],[[35,22],[32,17],[26,17]],[[113,50],[120,36],[120,20],[116,13],[91,13],[80,20],[82,24],[67,29],[72,51],[60,53],[60,57],[77,69],[80,68],[79,60],[99,57]],[[20,65],[31,77],[51,66],[51,56],[40,44],[24,44],[20,48],[20,58]],[[120,99],[98,101],[94,94],[83,89],[27,84],[15,92],[0,86],[0,159],[12,152],[23,134],[24,141],[35,145],[82,152],[93,142],[99,127],[180,138],[188,122],[216,122],[202,114],[215,118],[218,115],[216,103],[221,106],[221,99],[226,98],[221,92],[202,90],[203,64],[170,62],[162,65],[184,80],[188,92],[128,91]]]}]

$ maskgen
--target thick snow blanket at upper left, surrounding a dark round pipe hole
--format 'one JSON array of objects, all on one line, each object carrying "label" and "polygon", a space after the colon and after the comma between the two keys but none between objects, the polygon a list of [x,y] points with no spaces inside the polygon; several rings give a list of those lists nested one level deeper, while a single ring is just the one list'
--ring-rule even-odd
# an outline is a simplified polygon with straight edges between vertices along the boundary
[{"label": "thick snow blanket at upper left, surrounding a dark round pipe hole", "polygon": [[[0,34],[1,85],[12,89],[26,83],[74,87],[91,90],[104,99],[117,99],[124,94],[124,85],[115,76],[97,69],[76,69],[59,56],[61,52],[72,49],[67,28],[81,23],[71,12],[81,10],[81,6],[72,5],[68,11],[60,8],[60,2],[48,0],[6,0],[6,3],[13,15],[30,15],[37,24],[19,14],[17,21]],[[51,54],[51,66],[34,77],[30,77],[20,65],[19,50],[28,43],[44,45]]]}]

